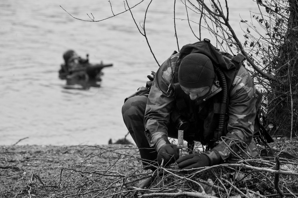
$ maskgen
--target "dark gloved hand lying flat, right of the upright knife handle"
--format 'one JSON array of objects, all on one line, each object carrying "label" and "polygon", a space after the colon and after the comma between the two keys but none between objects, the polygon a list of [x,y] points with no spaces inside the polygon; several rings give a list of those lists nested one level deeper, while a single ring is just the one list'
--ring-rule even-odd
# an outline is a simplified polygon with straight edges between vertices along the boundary
[{"label": "dark gloved hand lying flat, right of the upright knife handle", "polygon": [[192,169],[210,166],[209,158],[206,154],[203,153],[193,153],[189,155],[184,155],[178,160],[176,160],[176,162],[179,168],[182,169]]}]

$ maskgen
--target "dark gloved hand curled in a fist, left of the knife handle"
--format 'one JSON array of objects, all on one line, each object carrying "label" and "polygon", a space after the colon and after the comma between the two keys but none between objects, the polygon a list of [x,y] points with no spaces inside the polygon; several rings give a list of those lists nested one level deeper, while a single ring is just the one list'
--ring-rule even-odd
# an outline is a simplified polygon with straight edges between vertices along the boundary
[{"label": "dark gloved hand curled in a fist, left of the knife handle", "polygon": [[165,144],[162,146],[157,154],[157,162],[159,165],[162,164],[162,159],[164,159],[163,166],[170,165],[175,162],[175,159],[179,158],[179,149],[175,144]]}]

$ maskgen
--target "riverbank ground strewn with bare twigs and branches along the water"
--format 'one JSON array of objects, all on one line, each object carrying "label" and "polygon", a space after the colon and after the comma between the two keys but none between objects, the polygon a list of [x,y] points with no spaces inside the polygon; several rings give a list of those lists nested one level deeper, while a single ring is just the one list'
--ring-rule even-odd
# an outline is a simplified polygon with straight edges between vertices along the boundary
[{"label": "riverbank ground strewn with bare twigs and branches along the water", "polygon": [[0,197],[298,196],[297,159],[282,153],[297,153],[298,141],[276,140],[270,146],[278,151],[279,168],[276,157],[263,157],[189,171],[173,164],[154,172],[144,170],[132,145],[60,147],[46,153],[36,146],[1,147]]}]

